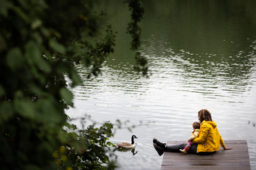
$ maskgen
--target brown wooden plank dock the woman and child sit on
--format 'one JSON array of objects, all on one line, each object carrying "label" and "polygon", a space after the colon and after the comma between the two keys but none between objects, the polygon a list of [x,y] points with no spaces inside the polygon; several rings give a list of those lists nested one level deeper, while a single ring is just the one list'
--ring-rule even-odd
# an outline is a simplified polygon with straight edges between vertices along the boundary
[{"label": "brown wooden plank dock the woman and child sit on", "polygon": [[[168,141],[167,144],[174,145],[185,143],[185,141]],[[210,155],[195,155],[181,152],[164,152],[164,158],[161,164],[161,170],[169,169],[251,169],[248,154],[247,141],[224,141],[227,147],[232,150],[216,151]]]}]

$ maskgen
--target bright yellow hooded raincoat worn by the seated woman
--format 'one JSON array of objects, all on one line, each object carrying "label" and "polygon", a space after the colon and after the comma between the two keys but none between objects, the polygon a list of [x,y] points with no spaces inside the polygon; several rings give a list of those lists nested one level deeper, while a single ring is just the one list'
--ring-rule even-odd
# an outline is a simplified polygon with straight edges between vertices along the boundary
[{"label": "bright yellow hooded raincoat worn by the seated woman", "polygon": [[220,150],[220,145],[223,148],[225,147],[223,138],[221,138],[217,124],[214,121],[202,121],[199,137],[192,142],[198,144],[197,152],[218,151]]}]

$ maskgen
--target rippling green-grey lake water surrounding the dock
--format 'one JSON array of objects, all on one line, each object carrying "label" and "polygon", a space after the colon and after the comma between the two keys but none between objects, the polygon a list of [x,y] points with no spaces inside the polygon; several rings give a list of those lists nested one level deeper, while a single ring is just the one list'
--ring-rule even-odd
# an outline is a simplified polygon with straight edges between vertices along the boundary
[{"label": "rippling green-grey lake water surrounding the dock", "polygon": [[[133,71],[134,53],[126,35],[130,13],[123,1],[106,1],[115,53],[102,76],[74,88],[70,117],[95,121],[130,120],[130,132],[117,130],[110,141],[130,141],[135,151],[117,151],[119,169],[160,169],[152,139],[186,141],[197,112],[206,108],[224,140],[247,140],[251,168],[256,169],[256,1],[147,0],[140,52],[150,63],[149,78]],[[74,124],[80,126],[78,121]]]}]

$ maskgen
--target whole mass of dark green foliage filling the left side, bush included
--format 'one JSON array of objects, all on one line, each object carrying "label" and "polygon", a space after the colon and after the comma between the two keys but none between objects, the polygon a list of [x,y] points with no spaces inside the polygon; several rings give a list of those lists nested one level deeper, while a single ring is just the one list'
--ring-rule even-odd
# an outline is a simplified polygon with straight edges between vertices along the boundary
[{"label": "whole mass of dark green foliage filling the left side, bush included", "polygon": [[93,11],[97,3],[0,0],[1,169],[116,168],[108,141],[113,124],[78,131],[64,114],[73,106],[66,79],[71,87],[81,83],[74,65],[98,76],[113,53],[111,26],[101,42],[93,40],[104,17]]}]

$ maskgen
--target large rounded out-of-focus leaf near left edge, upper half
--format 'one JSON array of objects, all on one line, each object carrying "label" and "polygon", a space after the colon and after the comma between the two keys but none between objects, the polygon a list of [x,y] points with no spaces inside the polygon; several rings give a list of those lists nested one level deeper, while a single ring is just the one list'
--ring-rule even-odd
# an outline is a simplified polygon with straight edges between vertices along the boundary
[{"label": "large rounded out-of-focus leaf near left edge, upper half", "polygon": [[18,47],[9,50],[6,56],[6,63],[12,70],[17,70],[22,66],[22,52]]}]

